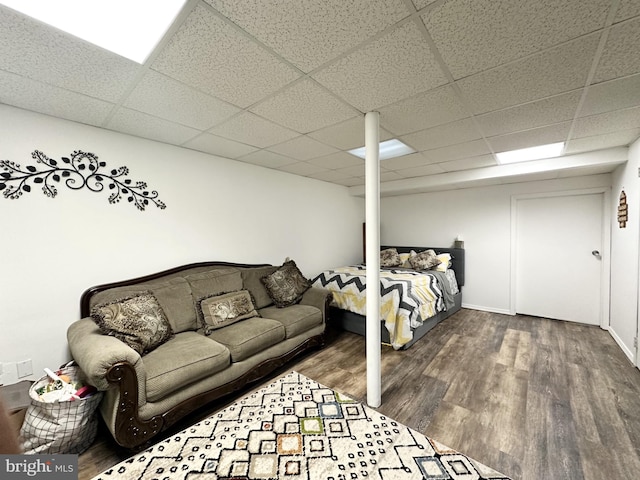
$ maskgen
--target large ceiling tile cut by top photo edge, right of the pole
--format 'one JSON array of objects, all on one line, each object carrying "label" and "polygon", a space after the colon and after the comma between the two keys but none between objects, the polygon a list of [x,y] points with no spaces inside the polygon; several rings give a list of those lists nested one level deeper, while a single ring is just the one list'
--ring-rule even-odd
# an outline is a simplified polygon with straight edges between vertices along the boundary
[{"label": "large ceiling tile cut by top photo edge, right of the pole", "polygon": [[421,18],[454,78],[462,78],[602,28],[610,3],[451,0]]}]

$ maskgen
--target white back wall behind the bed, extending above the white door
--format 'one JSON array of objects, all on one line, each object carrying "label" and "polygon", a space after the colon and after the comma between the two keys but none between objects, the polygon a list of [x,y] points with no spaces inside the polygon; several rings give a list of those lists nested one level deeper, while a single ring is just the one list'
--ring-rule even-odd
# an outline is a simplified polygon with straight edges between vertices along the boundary
[{"label": "white back wall behind the bed, extending above the white door", "polygon": [[605,174],[386,197],[380,206],[381,243],[449,247],[460,234],[466,250],[463,305],[508,314],[511,197],[610,185],[611,175]]}]

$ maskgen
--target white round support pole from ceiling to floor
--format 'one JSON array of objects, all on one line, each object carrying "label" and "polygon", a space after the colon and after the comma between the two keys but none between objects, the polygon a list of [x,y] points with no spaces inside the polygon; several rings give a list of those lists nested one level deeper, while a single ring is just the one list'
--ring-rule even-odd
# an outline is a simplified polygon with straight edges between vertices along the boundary
[{"label": "white round support pole from ceiling to floor", "polygon": [[379,407],[380,373],[380,114],[364,116],[367,262],[367,404]]}]

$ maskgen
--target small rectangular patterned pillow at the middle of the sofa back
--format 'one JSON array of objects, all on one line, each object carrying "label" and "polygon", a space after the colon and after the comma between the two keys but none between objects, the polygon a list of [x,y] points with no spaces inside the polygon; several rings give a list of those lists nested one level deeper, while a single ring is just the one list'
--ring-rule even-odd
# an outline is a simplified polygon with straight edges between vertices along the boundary
[{"label": "small rectangular patterned pillow at the middle of the sofa back", "polygon": [[205,335],[245,318],[260,316],[249,290],[201,298],[198,300],[198,313],[201,314]]}]

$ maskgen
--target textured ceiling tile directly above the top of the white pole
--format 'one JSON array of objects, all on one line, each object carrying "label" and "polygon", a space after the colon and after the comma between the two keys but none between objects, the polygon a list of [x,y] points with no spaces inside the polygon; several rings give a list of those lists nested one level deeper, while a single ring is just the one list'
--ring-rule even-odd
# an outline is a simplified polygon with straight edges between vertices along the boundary
[{"label": "textured ceiling tile directly above the top of the white pole", "polygon": [[447,83],[419,27],[412,21],[313,78],[362,112]]}]

